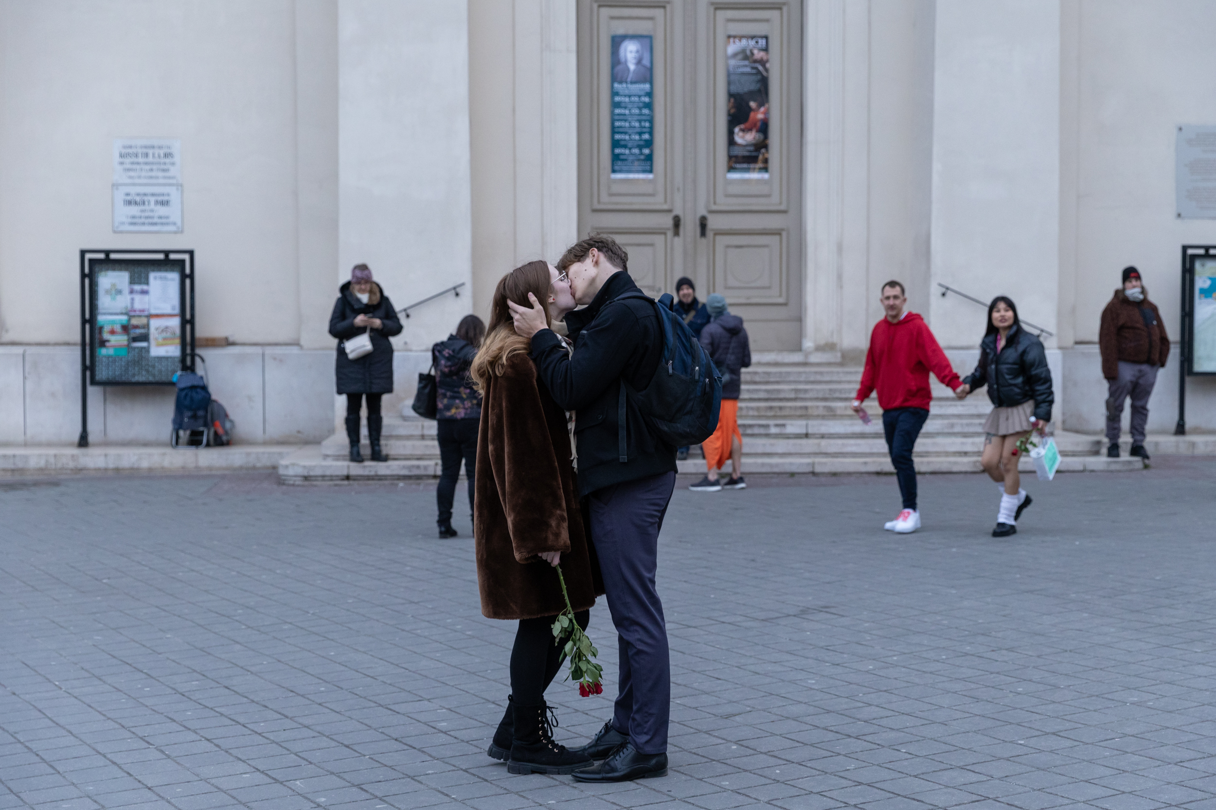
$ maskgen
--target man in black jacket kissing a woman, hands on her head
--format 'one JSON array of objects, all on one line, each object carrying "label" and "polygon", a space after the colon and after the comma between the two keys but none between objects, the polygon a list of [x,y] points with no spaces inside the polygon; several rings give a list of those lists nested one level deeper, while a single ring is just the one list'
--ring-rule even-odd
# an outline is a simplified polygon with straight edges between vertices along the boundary
[{"label": "man in black jacket kissing a woman, hands on her head", "polygon": [[617,300],[640,291],[627,260],[612,237],[593,236],[558,262],[569,274],[574,300],[587,305],[565,316],[573,355],[546,328],[539,301],[531,310],[511,304],[516,333],[531,338],[531,356],[548,392],[576,412],[579,494],[619,634],[613,719],[581,749],[604,761],[576,772],[582,782],[663,776],[668,767],[671,667],[654,576],[659,529],[675,487],[676,448],[651,431],[621,389],[623,383],[636,391],[647,387],[663,358],[655,305]]}]

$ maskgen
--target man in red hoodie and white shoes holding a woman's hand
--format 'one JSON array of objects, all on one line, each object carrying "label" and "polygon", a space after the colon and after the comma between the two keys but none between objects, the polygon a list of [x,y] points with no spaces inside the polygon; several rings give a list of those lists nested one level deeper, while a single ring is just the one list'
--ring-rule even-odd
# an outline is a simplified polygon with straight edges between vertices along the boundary
[{"label": "man in red hoodie and white shoes holding a woman's hand", "polygon": [[861,387],[852,401],[852,410],[860,415],[861,403],[872,391],[878,391],[886,448],[891,454],[891,464],[895,465],[900,494],[903,495],[902,511],[885,528],[907,534],[921,528],[912,447],[921,435],[924,420],[929,418],[929,401],[933,398],[929,372],[951,390],[957,391],[963,383],[929,332],[924,318],[916,312],[903,311],[907,296],[902,284],[883,284],[882,302],[886,317],[874,324],[874,330],[869,333],[866,370],[861,374]]}]

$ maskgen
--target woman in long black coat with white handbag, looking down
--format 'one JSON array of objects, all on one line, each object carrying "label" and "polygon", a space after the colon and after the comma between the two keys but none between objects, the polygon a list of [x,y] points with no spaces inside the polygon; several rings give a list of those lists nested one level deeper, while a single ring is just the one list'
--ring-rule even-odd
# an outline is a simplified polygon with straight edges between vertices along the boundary
[{"label": "woman in long black coat with white handbag, looking down", "polygon": [[[372,351],[359,359],[347,357],[345,341],[367,333],[372,339]],[[387,461],[381,452],[379,402],[393,392],[393,335],[401,334],[401,322],[393,302],[372,281],[367,265],[355,265],[350,281],[342,285],[338,300],[330,316],[330,334],[338,339],[338,357],[334,361],[334,378],[338,393],[347,395],[347,438],[350,440],[350,460],[362,463],[359,452],[359,409],[367,397],[367,437],[372,446],[372,460]]]}]

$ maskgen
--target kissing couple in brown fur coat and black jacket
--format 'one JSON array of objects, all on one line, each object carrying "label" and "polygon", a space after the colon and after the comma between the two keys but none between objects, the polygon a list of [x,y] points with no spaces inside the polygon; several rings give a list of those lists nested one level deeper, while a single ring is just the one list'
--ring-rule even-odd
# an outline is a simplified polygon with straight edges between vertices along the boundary
[{"label": "kissing couple in brown fur coat and black jacket", "polygon": [[[612,237],[592,236],[556,267],[531,261],[503,276],[471,369],[484,397],[473,519],[482,613],[519,622],[488,752],[512,774],[668,772],[671,668],[654,580],[676,448],[621,387],[644,389],[664,347],[627,262]],[[620,658],[612,719],[573,749],[553,740],[545,702],[564,659],[551,629],[567,610],[558,566],[580,629],[607,596]]]}]

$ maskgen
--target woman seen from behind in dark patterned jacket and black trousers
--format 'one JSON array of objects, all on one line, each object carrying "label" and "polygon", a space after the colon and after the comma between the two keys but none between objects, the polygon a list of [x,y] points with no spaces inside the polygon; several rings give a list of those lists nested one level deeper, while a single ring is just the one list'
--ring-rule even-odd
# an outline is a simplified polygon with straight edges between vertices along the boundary
[{"label": "woman seen from behind in dark patterned jacket and black trousers", "polygon": [[468,511],[473,512],[474,470],[477,468],[477,429],[482,421],[482,392],[473,385],[468,369],[485,336],[485,323],[466,315],[456,333],[430,347],[435,363],[435,420],[439,432],[439,537],[456,537],[452,528],[452,500],[460,463],[468,477]]}]

